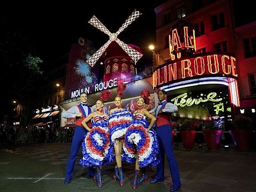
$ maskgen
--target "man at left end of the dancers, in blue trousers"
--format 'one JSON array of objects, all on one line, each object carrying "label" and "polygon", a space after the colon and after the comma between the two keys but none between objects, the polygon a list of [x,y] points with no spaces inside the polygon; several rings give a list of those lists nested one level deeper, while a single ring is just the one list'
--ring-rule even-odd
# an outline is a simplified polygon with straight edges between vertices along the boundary
[{"label": "man at left end of the dancers, in blue trousers", "polygon": [[[74,171],[74,164],[75,164],[76,155],[77,155],[78,150],[81,146],[84,135],[88,132],[81,125],[81,121],[89,113],[91,113],[91,108],[88,107],[87,104],[86,104],[87,94],[85,92],[80,93],[80,101],[81,101],[80,104],[72,106],[68,110],[62,112],[62,117],[63,118],[70,118],[70,117],[75,117],[76,118],[70,155],[69,155],[67,165],[66,165],[66,175],[65,175],[65,180],[64,180],[65,184],[69,183],[70,180],[71,180],[71,177],[72,177],[73,171]],[[92,168],[88,168],[88,176],[89,177],[94,176],[94,170]]]}]

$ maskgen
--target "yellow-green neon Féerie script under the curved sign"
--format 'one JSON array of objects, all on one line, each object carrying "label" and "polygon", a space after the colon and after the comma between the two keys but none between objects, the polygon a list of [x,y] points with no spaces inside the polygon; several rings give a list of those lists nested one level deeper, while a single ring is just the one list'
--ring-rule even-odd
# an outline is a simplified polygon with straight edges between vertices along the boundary
[{"label": "yellow-green neon F\u00e9erie script under the curved sign", "polygon": [[217,96],[216,92],[210,92],[204,99],[202,97],[186,98],[187,93],[185,92],[183,94],[180,94],[180,95],[172,98],[171,101],[174,101],[174,104],[177,106],[184,107],[184,106],[191,106],[192,104],[199,104],[201,102],[207,102],[207,101],[218,102],[218,101],[222,100],[222,98],[215,98],[216,96]]}]

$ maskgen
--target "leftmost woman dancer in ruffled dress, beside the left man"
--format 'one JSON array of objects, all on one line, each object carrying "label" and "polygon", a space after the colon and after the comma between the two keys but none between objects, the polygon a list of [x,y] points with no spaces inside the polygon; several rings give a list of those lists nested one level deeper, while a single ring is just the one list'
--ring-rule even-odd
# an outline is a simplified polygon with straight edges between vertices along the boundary
[{"label": "leftmost woman dancer in ruffled dress, beside the left man", "polygon": [[[96,112],[91,112],[85,117],[81,124],[89,132],[82,142],[82,155],[80,164],[82,166],[96,168],[94,181],[97,186],[102,186],[101,165],[109,164],[113,160],[113,148],[110,147],[110,137],[107,128],[107,115],[102,112],[106,96],[110,92],[103,91],[100,99],[96,101]],[[86,122],[92,119],[92,128]]]}]

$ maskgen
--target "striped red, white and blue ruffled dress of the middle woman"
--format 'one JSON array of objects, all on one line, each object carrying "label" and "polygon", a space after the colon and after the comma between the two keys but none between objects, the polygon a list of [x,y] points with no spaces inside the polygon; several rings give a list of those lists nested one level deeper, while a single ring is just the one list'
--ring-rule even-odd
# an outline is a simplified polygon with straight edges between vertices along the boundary
[{"label": "striped red, white and blue ruffled dress of the middle woman", "polygon": [[127,109],[114,110],[108,117],[108,129],[111,142],[117,138],[123,138],[129,122],[132,120],[132,114]]}]

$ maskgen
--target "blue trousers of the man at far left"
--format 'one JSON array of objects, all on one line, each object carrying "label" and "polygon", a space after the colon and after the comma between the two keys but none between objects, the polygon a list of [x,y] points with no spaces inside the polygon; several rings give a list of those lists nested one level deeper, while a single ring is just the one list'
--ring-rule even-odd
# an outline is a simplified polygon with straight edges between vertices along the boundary
[{"label": "blue trousers of the man at far left", "polygon": [[[87,130],[81,126],[75,126],[74,135],[71,144],[70,155],[66,165],[66,178],[71,178],[74,172],[74,165],[77,153],[84,139],[84,135],[87,134]],[[88,175],[94,176],[94,169],[88,167]]]}]

